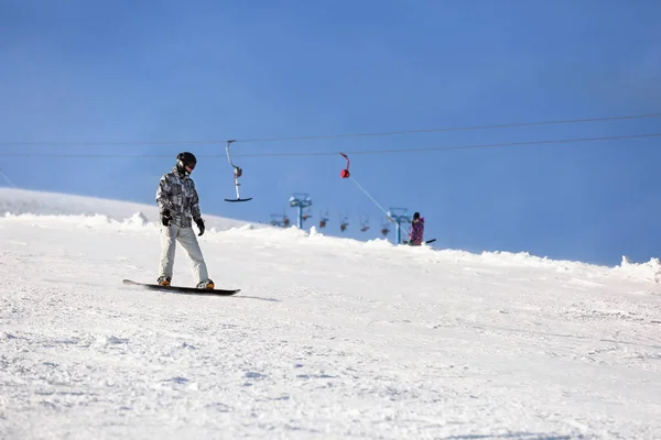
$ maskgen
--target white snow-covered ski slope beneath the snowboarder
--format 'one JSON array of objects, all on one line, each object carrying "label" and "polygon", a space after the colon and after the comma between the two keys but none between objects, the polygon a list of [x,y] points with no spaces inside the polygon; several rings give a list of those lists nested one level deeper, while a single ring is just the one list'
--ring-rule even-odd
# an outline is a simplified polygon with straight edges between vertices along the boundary
[{"label": "white snow-covered ski slope beneath the snowboarder", "polygon": [[121,284],[155,279],[155,207],[0,189],[0,216],[2,439],[661,438],[658,260],[207,217],[242,290],[185,296]]}]

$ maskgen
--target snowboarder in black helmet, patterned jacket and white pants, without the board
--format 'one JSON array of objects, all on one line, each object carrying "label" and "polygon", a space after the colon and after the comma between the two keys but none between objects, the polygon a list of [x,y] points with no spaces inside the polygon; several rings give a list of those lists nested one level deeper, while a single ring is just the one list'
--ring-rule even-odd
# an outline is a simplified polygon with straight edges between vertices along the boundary
[{"label": "snowboarder in black helmet, patterned jacket and white pants, without the board", "polygon": [[170,286],[174,267],[174,251],[176,242],[188,253],[192,262],[193,277],[197,288],[214,288],[209,279],[206,263],[199,249],[199,243],[193,231],[193,221],[199,229],[198,235],[205,230],[204,220],[199,212],[199,199],[191,173],[195,169],[197,160],[189,152],[180,153],[172,170],[159,182],[156,204],[161,213],[161,267],[158,283]]}]

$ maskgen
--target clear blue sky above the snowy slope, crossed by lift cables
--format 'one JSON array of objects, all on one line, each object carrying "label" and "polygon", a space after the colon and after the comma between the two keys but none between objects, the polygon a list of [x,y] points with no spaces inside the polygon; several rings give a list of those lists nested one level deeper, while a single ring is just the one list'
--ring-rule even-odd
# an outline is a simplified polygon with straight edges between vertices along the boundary
[{"label": "clear blue sky above the snowy slope, crossed by lift cables", "polygon": [[[258,139],[661,112],[661,3],[643,1],[0,0],[0,168],[19,187],[152,204],[176,153],[198,156],[204,212],[294,215],[380,237],[382,213],[337,156],[236,157],[221,144],[47,142]],[[318,141],[318,153],[661,132],[661,118]],[[659,256],[660,138],[351,156],[379,204],[420,211],[437,248],[618,264]],[[30,153],[25,156],[11,156]],[[47,154],[117,155],[113,158]],[[139,155],[148,157],[126,157]],[[124,156],[124,157],[122,157]],[[1,179],[0,179],[1,182]],[[342,233],[340,216],[351,224]],[[371,229],[358,231],[369,216]],[[389,235],[392,240],[393,234]]]}]

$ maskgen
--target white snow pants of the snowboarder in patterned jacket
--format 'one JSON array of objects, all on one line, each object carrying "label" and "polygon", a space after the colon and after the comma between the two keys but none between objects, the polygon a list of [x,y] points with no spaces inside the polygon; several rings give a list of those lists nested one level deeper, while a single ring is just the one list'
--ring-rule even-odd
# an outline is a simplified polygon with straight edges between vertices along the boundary
[{"label": "white snow pants of the snowboarder in patterned jacket", "polygon": [[159,276],[169,276],[172,278],[174,251],[177,241],[188,253],[193,278],[196,280],[195,283],[197,284],[209,279],[206,263],[202,256],[202,250],[199,249],[199,243],[197,243],[197,237],[195,235],[193,228],[182,228],[176,224],[161,227],[161,270]]}]

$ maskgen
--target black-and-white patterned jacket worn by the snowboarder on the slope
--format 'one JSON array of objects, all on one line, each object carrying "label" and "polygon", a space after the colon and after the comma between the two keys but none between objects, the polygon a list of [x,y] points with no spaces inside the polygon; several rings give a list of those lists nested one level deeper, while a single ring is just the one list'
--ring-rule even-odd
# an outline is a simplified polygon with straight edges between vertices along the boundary
[{"label": "black-and-white patterned jacket worn by the snowboarder on the slope", "polygon": [[195,183],[191,177],[180,174],[176,166],[161,177],[156,189],[156,204],[161,213],[169,210],[172,223],[182,228],[193,224],[191,217],[202,217]]}]

